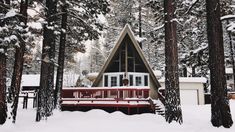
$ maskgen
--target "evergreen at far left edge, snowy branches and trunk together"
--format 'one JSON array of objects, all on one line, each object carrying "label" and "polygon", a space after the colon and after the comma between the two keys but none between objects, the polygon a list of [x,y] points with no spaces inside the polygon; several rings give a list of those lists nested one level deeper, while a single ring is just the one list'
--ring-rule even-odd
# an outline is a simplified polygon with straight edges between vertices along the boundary
[{"label": "evergreen at far left edge, snowy branches and trunk together", "polygon": [[7,118],[6,77],[7,49],[18,45],[16,28],[16,12],[10,0],[0,1],[0,124]]}]

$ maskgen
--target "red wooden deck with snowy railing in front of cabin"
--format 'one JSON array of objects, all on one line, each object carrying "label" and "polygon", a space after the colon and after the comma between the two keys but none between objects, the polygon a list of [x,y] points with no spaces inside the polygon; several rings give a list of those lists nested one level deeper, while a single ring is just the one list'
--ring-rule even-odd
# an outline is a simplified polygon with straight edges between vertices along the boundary
[{"label": "red wooden deck with snowy railing in front of cabin", "polygon": [[71,87],[63,88],[61,106],[62,110],[99,108],[127,114],[154,113],[154,104],[148,97],[149,88]]}]

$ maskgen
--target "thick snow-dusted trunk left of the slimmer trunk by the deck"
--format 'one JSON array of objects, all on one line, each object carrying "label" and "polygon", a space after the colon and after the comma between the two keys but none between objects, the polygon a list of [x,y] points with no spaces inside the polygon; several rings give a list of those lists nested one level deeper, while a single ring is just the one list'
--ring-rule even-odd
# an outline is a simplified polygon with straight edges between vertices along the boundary
[{"label": "thick snow-dusted trunk left of the slimmer trunk by the deck", "polygon": [[38,91],[38,108],[36,121],[42,117],[48,117],[53,110],[54,97],[54,58],[55,58],[55,39],[54,34],[57,0],[46,0],[46,20],[43,26],[43,46],[40,88]]}]

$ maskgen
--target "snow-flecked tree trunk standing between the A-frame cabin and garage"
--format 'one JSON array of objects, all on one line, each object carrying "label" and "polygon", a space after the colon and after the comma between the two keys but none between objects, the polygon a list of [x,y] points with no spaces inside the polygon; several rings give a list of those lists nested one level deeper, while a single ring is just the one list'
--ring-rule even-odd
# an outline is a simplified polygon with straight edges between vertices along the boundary
[{"label": "snow-flecked tree trunk standing between the A-frame cabin and garage", "polygon": [[183,122],[180,107],[178,49],[176,39],[175,0],[164,0],[165,14],[165,118],[171,123],[173,120]]}]

